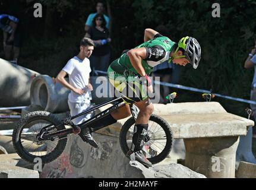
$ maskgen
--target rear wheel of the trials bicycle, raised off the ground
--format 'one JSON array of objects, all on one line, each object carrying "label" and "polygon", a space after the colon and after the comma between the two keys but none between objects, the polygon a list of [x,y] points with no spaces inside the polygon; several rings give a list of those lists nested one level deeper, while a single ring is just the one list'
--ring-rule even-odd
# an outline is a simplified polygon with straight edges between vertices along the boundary
[{"label": "rear wheel of the trials bicycle, raised off the ground", "polygon": [[[52,128],[49,132],[65,129],[62,122],[49,112],[36,111],[27,113],[16,125],[12,134],[12,143],[18,155],[30,163],[34,159],[42,159],[42,163],[49,163],[58,158],[64,151],[67,144],[67,138],[61,140],[37,140],[36,136],[40,129],[49,125]],[[55,126],[58,126],[56,128]]]}]

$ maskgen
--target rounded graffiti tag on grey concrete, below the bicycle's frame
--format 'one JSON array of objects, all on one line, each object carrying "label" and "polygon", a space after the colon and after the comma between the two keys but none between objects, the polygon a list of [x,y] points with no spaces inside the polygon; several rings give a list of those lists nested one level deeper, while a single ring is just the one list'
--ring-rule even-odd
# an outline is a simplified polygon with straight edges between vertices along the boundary
[{"label": "rounded graffiti tag on grey concrete, below the bicycle's frame", "polygon": [[84,162],[84,152],[78,146],[78,143],[77,143],[78,138],[80,138],[80,137],[75,138],[71,145],[69,162],[72,166],[81,168],[81,167],[84,167],[84,165],[86,163],[83,163]]}]

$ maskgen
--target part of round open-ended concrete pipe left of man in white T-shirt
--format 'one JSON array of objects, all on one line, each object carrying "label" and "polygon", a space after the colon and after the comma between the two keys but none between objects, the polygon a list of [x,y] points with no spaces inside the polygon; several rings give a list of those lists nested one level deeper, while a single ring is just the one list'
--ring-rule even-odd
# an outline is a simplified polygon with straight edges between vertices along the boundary
[{"label": "part of round open-ended concrete pipe left of man in white T-shirt", "polygon": [[31,105],[39,105],[51,113],[66,112],[69,110],[69,91],[48,75],[39,75],[31,84],[30,102]]}]

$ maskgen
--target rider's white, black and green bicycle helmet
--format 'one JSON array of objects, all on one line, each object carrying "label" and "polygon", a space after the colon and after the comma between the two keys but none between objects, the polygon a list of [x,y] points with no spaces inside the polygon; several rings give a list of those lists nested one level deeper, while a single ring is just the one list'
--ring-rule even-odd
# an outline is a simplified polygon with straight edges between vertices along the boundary
[{"label": "rider's white, black and green bicycle helmet", "polygon": [[197,40],[194,37],[182,37],[182,39],[179,40],[174,55],[176,55],[179,48],[184,49],[185,53],[182,56],[175,56],[174,58],[186,58],[190,64],[193,65],[193,68],[196,69],[201,59],[201,47]]}]

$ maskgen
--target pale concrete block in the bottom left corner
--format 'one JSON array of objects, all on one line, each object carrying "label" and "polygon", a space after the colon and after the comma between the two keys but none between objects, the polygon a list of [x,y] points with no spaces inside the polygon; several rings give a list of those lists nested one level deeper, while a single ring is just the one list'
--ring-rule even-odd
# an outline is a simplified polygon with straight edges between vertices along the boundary
[{"label": "pale concrete block in the bottom left corner", "polygon": [[18,166],[0,165],[0,177],[2,178],[39,178],[35,170]]}]

